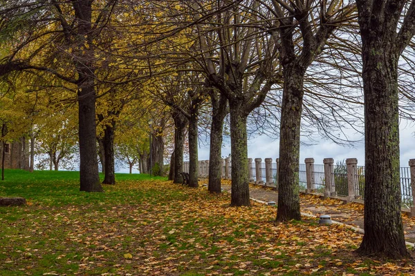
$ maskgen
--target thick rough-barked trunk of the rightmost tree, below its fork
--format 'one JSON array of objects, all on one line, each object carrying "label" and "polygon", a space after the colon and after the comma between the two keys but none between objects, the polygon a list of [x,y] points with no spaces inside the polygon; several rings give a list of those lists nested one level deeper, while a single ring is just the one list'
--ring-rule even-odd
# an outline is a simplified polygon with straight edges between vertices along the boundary
[{"label": "thick rough-barked trunk of the rightmost tree, below its fork", "polygon": [[358,252],[399,259],[409,256],[400,215],[399,51],[393,35],[378,32],[362,32],[365,235]]}]

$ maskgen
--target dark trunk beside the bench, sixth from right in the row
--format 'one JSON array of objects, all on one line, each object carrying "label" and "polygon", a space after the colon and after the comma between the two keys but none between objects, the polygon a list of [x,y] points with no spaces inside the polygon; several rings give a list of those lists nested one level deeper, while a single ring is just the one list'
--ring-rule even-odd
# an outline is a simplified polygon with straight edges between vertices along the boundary
[{"label": "dark trunk beside the bench, sixth from right in the row", "polygon": [[181,112],[173,112],[174,119],[174,180],[173,183],[183,183],[183,144],[185,143],[185,117]]}]

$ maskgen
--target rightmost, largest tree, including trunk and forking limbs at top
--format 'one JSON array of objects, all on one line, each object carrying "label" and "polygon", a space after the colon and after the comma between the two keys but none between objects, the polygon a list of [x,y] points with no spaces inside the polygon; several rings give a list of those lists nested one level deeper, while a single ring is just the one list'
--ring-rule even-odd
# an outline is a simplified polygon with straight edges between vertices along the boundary
[{"label": "rightmost, largest tree, including trunk and forking limbs at top", "polygon": [[408,257],[400,216],[398,61],[415,2],[357,0],[365,93],[365,236],[358,252]]}]

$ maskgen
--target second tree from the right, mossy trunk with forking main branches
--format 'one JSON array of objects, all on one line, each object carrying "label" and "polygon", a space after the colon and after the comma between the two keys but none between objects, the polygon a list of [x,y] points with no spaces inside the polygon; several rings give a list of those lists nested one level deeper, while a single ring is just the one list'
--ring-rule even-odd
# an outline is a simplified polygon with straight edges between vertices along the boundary
[{"label": "second tree from the right, mossy trunk with forking main branches", "polygon": [[301,219],[299,212],[299,145],[304,75],[331,33],[351,12],[342,1],[272,1],[269,31],[279,41],[284,88],[279,130],[279,186],[277,221]]}]

